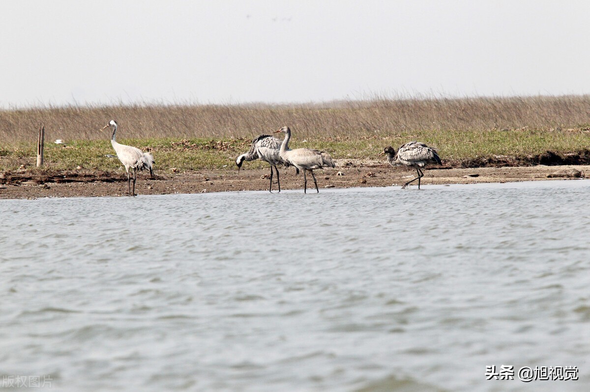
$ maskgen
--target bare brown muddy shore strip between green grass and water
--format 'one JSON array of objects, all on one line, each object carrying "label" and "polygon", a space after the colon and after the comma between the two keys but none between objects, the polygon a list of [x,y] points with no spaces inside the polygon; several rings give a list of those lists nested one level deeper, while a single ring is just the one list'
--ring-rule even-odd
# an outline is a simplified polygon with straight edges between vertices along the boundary
[{"label": "bare brown muddy shore strip between green grass and water", "polygon": [[[573,169],[573,172],[572,172]],[[479,167],[459,169],[432,167],[424,170],[423,185],[430,184],[473,184],[489,182],[514,182],[534,180],[564,180],[590,173],[590,166],[527,166],[527,167]],[[295,170],[279,169],[281,189],[301,189],[303,174]],[[248,169],[242,167],[238,174],[234,167],[221,170],[156,170],[156,179],[149,173],[137,176],[137,195],[166,195],[171,193],[227,192],[237,190],[268,190],[269,169]],[[316,170],[320,192],[325,188],[383,187],[403,185],[415,176],[415,170],[405,167],[393,168],[382,162],[338,162],[336,169]],[[276,178],[273,179],[276,192]],[[313,188],[311,176],[308,189]],[[417,186],[411,186],[417,189]],[[313,190],[313,192],[315,192]],[[0,173],[0,199],[30,199],[36,197],[78,197],[78,196],[125,196],[127,177],[122,171],[98,172],[74,170],[34,174],[23,170]]]}]

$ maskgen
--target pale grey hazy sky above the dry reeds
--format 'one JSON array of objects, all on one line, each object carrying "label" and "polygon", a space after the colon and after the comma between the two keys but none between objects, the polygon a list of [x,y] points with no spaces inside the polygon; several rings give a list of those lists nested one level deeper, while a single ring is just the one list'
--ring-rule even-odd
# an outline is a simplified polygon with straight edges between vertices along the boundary
[{"label": "pale grey hazy sky above the dry reeds", "polygon": [[590,94],[590,2],[0,2],[0,107]]}]

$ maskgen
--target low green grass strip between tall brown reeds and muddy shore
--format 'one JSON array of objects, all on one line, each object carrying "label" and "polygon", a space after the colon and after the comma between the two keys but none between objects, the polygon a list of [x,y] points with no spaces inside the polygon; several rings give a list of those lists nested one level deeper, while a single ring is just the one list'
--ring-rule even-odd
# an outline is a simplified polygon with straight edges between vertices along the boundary
[{"label": "low green grass strip between tall brown reeds and muddy shore", "polygon": [[[303,139],[303,138],[300,138]],[[419,140],[438,148],[444,161],[460,161],[497,155],[527,157],[554,151],[558,154],[575,153],[590,146],[590,134],[581,126],[569,130],[424,130],[398,133],[394,136],[350,138],[310,137],[294,139],[291,148],[309,147],[329,152],[335,159],[382,159],[378,154],[385,146],[399,147],[411,140]],[[235,158],[250,148],[250,139],[211,138],[147,138],[122,139],[120,143],[151,151],[156,170],[228,169],[235,167]],[[109,140],[73,140],[67,146],[45,143],[45,168],[73,170],[115,170],[121,166]],[[15,170],[22,164],[34,167],[37,156],[35,143],[17,142],[0,149],[0,170]],[[259,160],[248,162],[247,167],[265,167]]]}]

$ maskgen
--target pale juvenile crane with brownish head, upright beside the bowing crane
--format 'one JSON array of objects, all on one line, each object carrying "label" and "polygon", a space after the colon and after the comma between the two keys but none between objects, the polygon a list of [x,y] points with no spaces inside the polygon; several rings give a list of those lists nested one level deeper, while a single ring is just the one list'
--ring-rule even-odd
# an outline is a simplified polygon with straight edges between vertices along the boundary
[{"label": "pale juvenile crane with brownish head, upright beside the bowing crane", "polygon": [[289,148],[289,140],[291,139],[291,130],[289,127],[283,127],[274,133],[282,132],[285,134],[283,143],[281,143],[281,149],[279,155],[285,162],[292,164],[297,169],[303,169],[303,192],[307,193],[307,177],[305,172],[309,170],[312,173],[313,183],[316,185],[317,193],[320,192],[317,189],[316,176],[313,174],[314,169],[322,169],[322,167],[336,167],[336,164],[328,153],[313,149],[294,149]]}]

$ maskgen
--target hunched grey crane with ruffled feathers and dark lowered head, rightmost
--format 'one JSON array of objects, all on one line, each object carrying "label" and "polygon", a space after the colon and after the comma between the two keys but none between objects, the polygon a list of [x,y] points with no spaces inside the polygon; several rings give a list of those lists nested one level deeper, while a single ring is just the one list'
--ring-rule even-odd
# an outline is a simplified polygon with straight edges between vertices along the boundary
[{"label": "hunched grey crane with ruffled feathers and dark lowered head, rightmost", "polygon": [[437,154],[437,149],[434,147],[428,147],[426,144],[420,143],[419,141],[410,141],[399,147],[397,152],[394,147],[387,146],[383,149],[381,154],[387,156],[387,161],[391,166],[405,165],[415,167],[418,172],[418,177],[405,183],[404,186],[402,186],[402,189],[415,180],[418,180],[418,189],[420,189],[420,179],[424,177],[424,173],[422,173],[420,168],[426,166],[427,163],[442,164],[441,159]]}]

